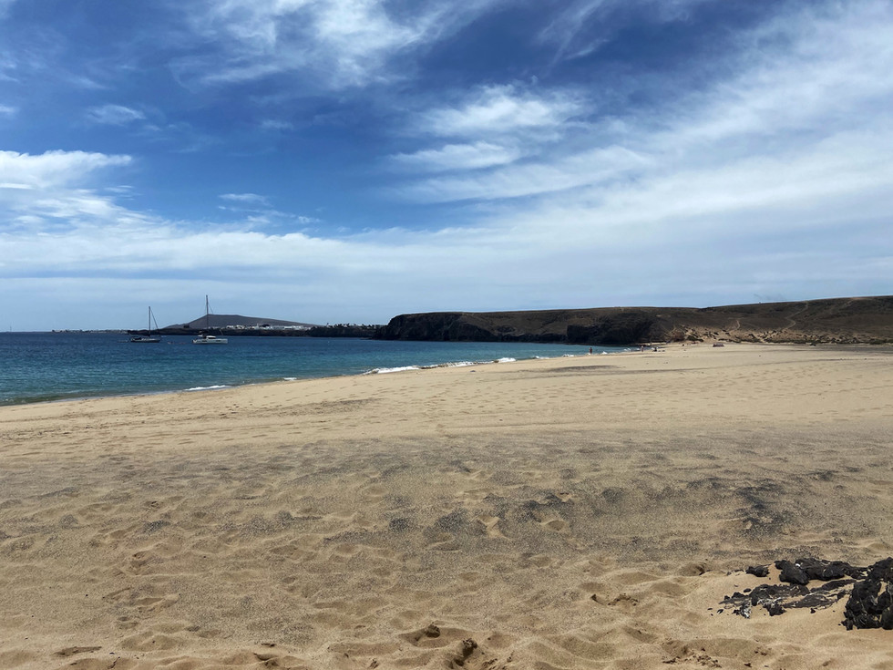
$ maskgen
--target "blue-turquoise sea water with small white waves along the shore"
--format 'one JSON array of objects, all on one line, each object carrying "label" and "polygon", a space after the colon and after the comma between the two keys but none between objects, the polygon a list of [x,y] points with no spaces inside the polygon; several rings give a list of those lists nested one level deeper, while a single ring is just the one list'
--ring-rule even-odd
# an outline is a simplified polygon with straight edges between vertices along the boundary
[{"label": "blue-turquoise sea water with small white waves along the shore", "polygon": [[[405,367],[583,356],[588,346],[390,342],[321,337],[186,336],[136,345],[108,333],[0,333],[0,405],[232,387],[280,379],[361,375]],[[596,347],[595,353],[622,351]]]}]

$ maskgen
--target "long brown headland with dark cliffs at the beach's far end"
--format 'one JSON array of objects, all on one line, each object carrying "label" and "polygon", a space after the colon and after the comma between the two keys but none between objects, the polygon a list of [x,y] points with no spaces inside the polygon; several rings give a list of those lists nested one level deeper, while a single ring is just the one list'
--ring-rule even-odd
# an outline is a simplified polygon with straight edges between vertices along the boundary
[{"label": "long brown headland with dark cliffs at the beach's far end", "polygon": [[893,343],[893,296],[721,307],[599,307],[530,312],[401,314],[380,339],[477,342]]}]

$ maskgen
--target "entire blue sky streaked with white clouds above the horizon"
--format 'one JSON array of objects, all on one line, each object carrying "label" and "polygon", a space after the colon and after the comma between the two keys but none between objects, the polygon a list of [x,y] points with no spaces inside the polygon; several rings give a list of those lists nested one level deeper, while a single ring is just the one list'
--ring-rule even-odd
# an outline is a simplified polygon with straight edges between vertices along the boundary
[{"label": "entire blue sky streaked with white clouds above the horizon", "polygon": [[0,0],[0,331],[893,294],[888,0]]}]

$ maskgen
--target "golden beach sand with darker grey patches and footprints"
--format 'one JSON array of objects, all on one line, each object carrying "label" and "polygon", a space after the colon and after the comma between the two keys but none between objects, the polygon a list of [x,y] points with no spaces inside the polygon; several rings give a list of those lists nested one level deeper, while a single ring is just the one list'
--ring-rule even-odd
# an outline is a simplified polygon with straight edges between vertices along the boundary
[{"label": "golden beach sand with darker grey patches and footprints", "polygon": [[720,604],[893,554],[891,448],[886,347],[0,407],[0,667],[891,669]]}]

